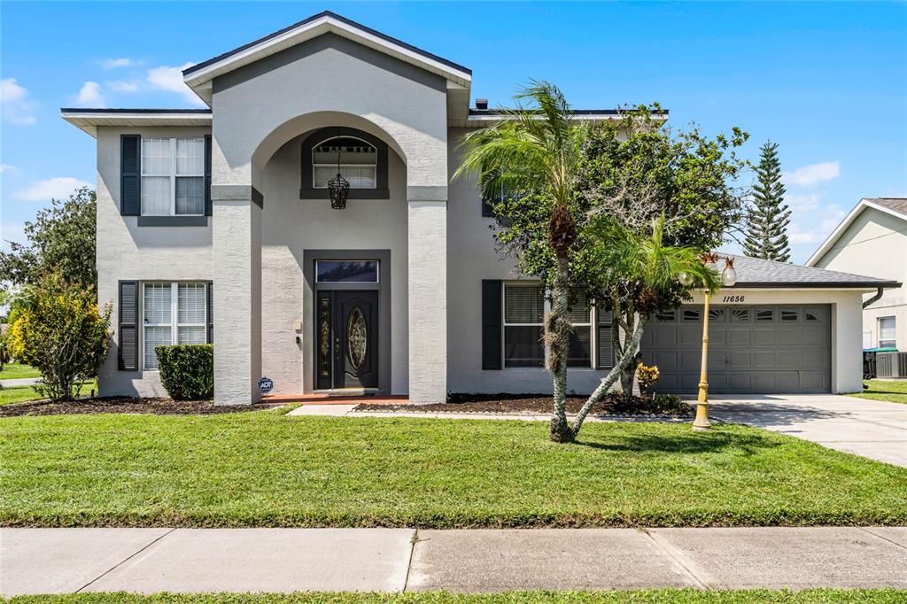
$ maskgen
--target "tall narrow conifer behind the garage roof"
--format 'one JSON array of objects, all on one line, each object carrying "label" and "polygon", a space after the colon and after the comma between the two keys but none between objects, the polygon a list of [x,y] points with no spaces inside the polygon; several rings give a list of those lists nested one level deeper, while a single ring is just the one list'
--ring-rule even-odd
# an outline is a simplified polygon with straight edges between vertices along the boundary
[{"label": "tall narrow conifer behind the garage roof", "polygon": [[756,166],[758,181],[753,185],[754,204],[747,216],[743,247],[746,256],[787,262],[791,257],[787,239],[791,210],[785,204],[785,186],[781,184],[781,162],[778,161],[777,150],[778,144],[772,141],[759,148],[761,157]]}]

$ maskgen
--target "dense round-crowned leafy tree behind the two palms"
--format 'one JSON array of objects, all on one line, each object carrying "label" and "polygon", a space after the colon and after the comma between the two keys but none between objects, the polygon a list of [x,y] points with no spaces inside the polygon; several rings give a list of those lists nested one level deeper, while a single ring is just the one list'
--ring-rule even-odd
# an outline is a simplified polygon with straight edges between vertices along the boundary
[{"label": "dense round-crowned leafy tree behind the two palms", "polygon": [[[697,127],[672,131],[660,121],[660,107],[640,105],[590,132],[584,148],[578,210],[590,219],[607,216],[638,236],[649,234],[651,221],[663,218],[665,245],[717,248],[744,216],[746,188],[733,183],[746,169],[736,149],[748,134],[737,128],[729,136],[709,138]],[[659,218],[660,217],[660,218]],[[591,234],[593,231],[589,231]],[[635,351],[639,281],[610,274],[604,283],[588,258],[590,243],[580,241],[574,259],[581,287],[614,312],[611,340],[615,358]],[[665,300],[678,306],[678,295]],[[628,349],[628,346],[631,346]],[[632,392],[635,364],[620,376],[624,393]]]}]

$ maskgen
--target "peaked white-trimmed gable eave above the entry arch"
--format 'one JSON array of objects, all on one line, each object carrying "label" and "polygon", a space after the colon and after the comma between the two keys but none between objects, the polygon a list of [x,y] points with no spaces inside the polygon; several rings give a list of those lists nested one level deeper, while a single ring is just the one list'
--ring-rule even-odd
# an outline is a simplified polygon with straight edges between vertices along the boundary
[{"label": "peaked white-trimmed gable eave above the entry arch", "polygon": [[340,35],[358,44],[389,54],[405,63],[411,63],[426,71],[441,75],[453,87],[468,89],[473,79],[472,70],[463,65],[428,53],[412,44],[406,44],[330,11],[325,11],[254,42],[193,65],[183,70],[183,80],[205,102],[210,104],[210,83],[217,76],[327,33]]}]

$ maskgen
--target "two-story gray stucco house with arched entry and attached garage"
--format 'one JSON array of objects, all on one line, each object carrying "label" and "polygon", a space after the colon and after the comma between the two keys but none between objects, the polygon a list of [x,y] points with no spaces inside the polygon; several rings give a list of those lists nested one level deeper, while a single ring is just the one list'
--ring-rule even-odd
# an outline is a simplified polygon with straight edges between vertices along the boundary
[{"label": "two-story gray stucco house with arched entry and attached garage", "polygon": [[[97,139],[98,292],[116,321],[102,395],[163,395],[154,346],[177,342],[215,344],[219,404],[257,401],[263,375],[276,393],[415,403],[550,391],[541,287],[495,251],[474,180],[451,180],[457,141],[503,119],[470,107],[469,69],[322,13],[183,73],[210,109],[63,110]],[[713,391],[861,387],[861,297],[891,284],[737,268],[714,300]],[[699,312],[652,323],[659,392],[695,390]],[[589,392],[612,365],[610,316],[573,320],[569,385]]]}]

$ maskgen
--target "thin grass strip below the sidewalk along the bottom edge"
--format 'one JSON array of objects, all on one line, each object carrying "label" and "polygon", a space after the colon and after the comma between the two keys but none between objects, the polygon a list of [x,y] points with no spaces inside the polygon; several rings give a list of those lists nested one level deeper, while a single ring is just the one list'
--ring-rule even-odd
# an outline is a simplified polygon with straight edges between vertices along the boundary
[{"label": "thin grass strip below the sidewalk along the bottom edge", "polygon": [[63,596],[20,596],[16,604],[882,604],[902,602],[897,589],[805,589],[803,591],[746,589],[698,591],[696,589],[639,589],[632,591],[512,591],[498,594],[444,592],[289,593],[289,594],[154,594],[79,593]]}]

